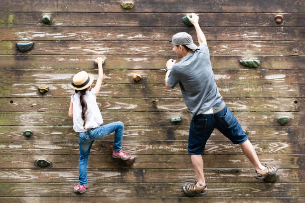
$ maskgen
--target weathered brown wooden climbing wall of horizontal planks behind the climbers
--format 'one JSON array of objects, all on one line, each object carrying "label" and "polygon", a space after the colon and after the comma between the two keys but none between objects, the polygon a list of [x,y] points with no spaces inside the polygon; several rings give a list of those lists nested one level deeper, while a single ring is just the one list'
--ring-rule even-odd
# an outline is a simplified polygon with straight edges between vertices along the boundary
[{"label": "weathered brown wooden climbing wall of horizontal planks behind the climbers", "polygon": [[[0,202],[3,203],[304,203],[305,3],[302,0],[0,1]],[[178,86],[164,87],[168,40],[195,30],[182,23],[199,14],[220,93],[262,163],[280,167],[276,183],[254,178],[239,145],[218,131],[203,155],[209,194],[188,198],[196,180],[187,154],[190,115]],[[276,15],[283,21],[275,22]],[[44,24],[42,16],[51,22]],[[20,52],[17,42],[33,41]],[[113,134],[95,141],[88,191],[75,195],[78,136],[68,117],[72,76],[93,73],[106,58],[97,102],[105,123],[123,121],[131,168],[111,157]],[[259,59],[258,68],[239,64]],[[132,76],[141,74],[134,82]],[[40,94],[38,87],[49,91]],[[182,121],[171,123],[171,117]],[[277,117],[291,120],[281,126]],[[31,130],[25,137],[23,132]],[[48,168],[37,159],[51,162]]]}]

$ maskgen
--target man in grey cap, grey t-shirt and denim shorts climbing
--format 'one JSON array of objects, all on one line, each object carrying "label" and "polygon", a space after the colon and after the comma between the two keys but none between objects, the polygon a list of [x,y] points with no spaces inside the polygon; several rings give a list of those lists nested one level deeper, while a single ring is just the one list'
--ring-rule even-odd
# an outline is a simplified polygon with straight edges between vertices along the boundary
[{"label": "man in grey cap, grey t-shirt and denim shorts climbing", "polygon": [[275,174],[278,167],[263,166],[260,163],[247,135],[218,92],[206,38],[198,23],[198,15],[192,13],[192,17],[188,16],[188,19],[195,27],[200,46],[197,47],[192,37],[186,32],[173,35],[172,51],[182,59],[178,63],[169,59],[165,69],[166,88],[174,88],[179,83],[184,102],[192,118],[187,151],[191,155],[198,180],[195,183],[187,182],[183,186],[184,193],[187,195],[207,194],[201,154],[214,128],[228,137],[233,144],[240,144],[244,154],[255,167],[256,178],[263,179]]}]

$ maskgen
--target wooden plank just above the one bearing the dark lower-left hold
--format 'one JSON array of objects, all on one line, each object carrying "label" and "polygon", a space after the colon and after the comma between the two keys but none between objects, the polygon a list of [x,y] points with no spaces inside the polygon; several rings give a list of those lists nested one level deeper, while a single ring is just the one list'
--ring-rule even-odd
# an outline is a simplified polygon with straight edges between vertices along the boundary
[{"label": "wooden plank just above the one bearing the dark lower-left hold", "polygon": [[[188,154],[188,140],[123,140],[130,154]],[[251,142],[258,154],[304,154],[303,140],[264,140]],[[111,154],[113,140],[95,140],[90,154]],[[79,154],[78,140],[68,141],[0,141],[0,153],[14,154]],[[238,144],[228,140],[208,140],[204,154],[242,154]]]}]

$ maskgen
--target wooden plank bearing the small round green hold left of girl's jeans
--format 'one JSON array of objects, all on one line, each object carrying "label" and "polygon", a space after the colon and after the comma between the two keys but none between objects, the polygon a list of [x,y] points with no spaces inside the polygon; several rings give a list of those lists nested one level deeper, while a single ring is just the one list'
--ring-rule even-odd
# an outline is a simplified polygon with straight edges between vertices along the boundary
[{"label": "wooden plank bearing the small round green hold left of girl's jeans", "polygon": [[[242,126],[250,140],[305,140],[305,126]],[[30,129],[32,135],[24,136]],[[187,140],[189,126],[125,126],[124,140]],[[0,140],[77,140],[72,126],[0,126]],[[104,139],[113,139],[113,134]],[[218,130],[210,139],[227,140]]]}]

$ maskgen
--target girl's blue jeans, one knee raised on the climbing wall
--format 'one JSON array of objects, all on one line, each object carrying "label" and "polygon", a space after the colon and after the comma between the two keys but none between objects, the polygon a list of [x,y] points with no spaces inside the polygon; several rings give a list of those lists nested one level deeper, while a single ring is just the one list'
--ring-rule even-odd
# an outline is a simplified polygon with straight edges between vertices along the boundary
[{"label": "girl's blue jeans, one knee raised on the climbing wall", "polygon": [[78,133],[79,144],[79,177],[80,185],[86,185],[87,181],[87,163],[90,149],[94,140],[102,139],[106,135],[115,132],[113,149],[120,151],[122,149],[124,124],[122,122],[113,122],[96,128],[91,128],[86,132]]}]

